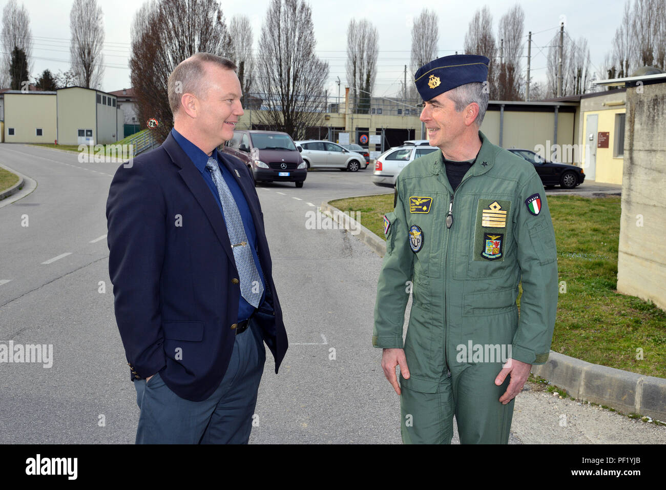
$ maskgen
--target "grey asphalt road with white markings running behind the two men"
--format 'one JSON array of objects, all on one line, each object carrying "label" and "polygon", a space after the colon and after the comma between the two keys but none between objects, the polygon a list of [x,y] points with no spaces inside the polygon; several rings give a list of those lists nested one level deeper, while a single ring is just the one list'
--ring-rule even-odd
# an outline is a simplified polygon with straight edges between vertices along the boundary
[{"label": "grey asphalt road with white markings running behind the two men", "polygon": [[[0,364],[0,443],[133,443],[139,409],[105,239],[119,164],[9,144],[0,145],[0,163],[37,181],[26,197],[0,201],[0,341],[53,345],[52,367]],[[382,259],[347,231],[306,228],[322,201],[392,192],[374,186],[371,173],[311,171],[302,189],[257,188],[290,348],[278,375],[268,353],[251,443],[400,443],[399,399],[370,343]],[[555,432],[539,429],[542,399],[529,391],[517,399],[512,443],[567,442],[557,413]],[[585,433],[615,427],[599,423]],[[623,428],[620,441],[665,442],[663,427],[643,426]]]}]

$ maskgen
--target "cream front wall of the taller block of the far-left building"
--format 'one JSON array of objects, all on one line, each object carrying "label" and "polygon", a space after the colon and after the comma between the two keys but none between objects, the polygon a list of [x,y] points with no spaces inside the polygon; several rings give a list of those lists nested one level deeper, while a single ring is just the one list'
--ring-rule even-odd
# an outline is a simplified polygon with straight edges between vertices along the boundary
[{"label": "cream front wall of the taller block of the far-left building", "polygon": [[58,91],[58,143],[78,145],[79,129],[93,130],[97,144],[97,116],[94,90],[71,87]]}]

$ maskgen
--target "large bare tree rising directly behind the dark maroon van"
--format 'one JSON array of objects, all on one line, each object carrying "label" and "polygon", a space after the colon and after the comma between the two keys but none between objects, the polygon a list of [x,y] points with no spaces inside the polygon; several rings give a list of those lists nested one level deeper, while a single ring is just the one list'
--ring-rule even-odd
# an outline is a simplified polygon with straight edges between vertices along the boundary
[{"label": "large bare tree rising directly behind the dark maroon van", "polygon": [[303,0],[271,0],[259,39],[260,121],[294,139],[324,116],[328,63],[314,53],[312,10]]}]

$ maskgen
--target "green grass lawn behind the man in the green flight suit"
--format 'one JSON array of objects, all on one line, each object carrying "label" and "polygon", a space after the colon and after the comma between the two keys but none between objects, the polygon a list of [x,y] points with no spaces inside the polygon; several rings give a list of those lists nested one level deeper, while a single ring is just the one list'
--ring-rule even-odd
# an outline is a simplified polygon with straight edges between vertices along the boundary
[{"label": "green grass lawn behind the man in the green flight suit", "polygon": [[[557,240],[560,293],[551,349],[590,363],[666,378],[666,312],[617,293],[620,198],[549,196]],[[382,215],[393,194],[339,199],[342,211],[360,211],[362,225],[384,237]],[[642,349],[643,359],[637,353]]]}]

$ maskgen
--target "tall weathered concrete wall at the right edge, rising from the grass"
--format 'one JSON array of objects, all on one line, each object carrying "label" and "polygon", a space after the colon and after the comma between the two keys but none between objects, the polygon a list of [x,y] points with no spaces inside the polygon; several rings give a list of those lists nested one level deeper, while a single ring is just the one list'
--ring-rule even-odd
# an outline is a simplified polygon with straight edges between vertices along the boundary
[{"label": "tall weathered concrete wall at the right edge, rising from the grass", "polygon": [[[637,93],[637,89],[643,93]],[[666,309],[666,83],[627,89],[617,290]]]}]

